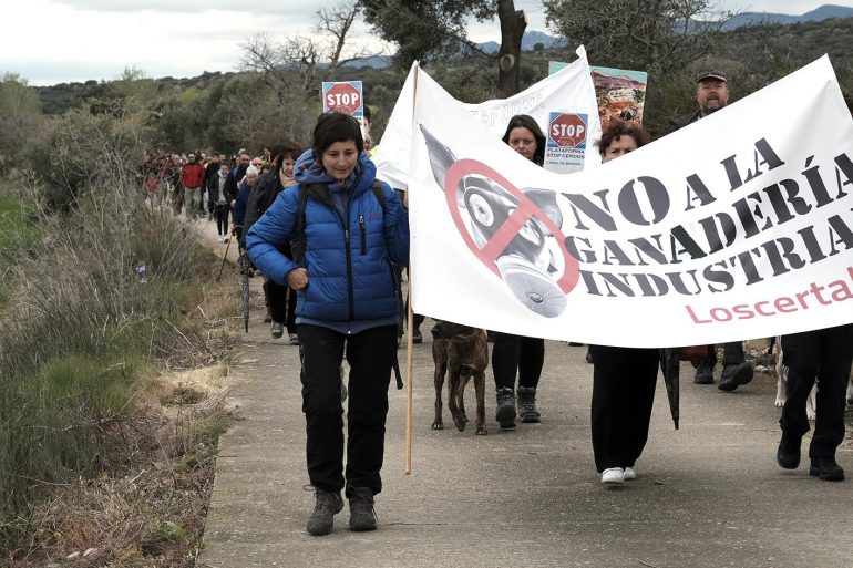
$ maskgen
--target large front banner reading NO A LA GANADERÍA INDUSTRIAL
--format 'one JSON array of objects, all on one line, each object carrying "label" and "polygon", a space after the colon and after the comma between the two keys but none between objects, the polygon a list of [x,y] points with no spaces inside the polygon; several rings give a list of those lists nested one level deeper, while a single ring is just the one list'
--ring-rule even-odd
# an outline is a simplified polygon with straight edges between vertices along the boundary
[{"label": "large front banner reading NO A LA GANADER\u00cdA INDUSTRIAL", "polygon": [[423,72],[415,105],[418,313],[626,347],[853,321],[853,120],[825,56],[565,175],[513,152]]}]

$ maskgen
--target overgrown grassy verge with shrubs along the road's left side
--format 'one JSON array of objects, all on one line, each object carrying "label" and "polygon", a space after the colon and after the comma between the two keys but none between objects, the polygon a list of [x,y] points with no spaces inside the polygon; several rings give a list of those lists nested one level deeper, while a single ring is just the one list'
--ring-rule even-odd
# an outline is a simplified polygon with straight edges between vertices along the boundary
[{"label": "overgrown grassy verge with shrubs along the road's left side", "polygon": [[189,567],[238,302],[192,230],[132,179],[88,189],[61,215],[2,199],[32,225],[0,237],[0,566]]}]

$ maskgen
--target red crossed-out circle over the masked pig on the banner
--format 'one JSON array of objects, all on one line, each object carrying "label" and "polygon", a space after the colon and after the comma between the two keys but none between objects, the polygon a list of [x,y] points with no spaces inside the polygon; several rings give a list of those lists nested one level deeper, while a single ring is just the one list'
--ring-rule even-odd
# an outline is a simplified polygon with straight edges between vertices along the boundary
[{"label": "red crossed-out circle over the masked pig on the banner", "polygon": [[[503,225],[497,227],[483,248],[477,247],[474,239],[471,238],[471,235],[465,227],[465,223],[462,219],[459,206],[456,205],[456,189],[459,184],[464,176],[472,174],[490,178],[518,199],[517,207],[506,218]],[[501,276],[501,272],[495,265],[495,260],[502,255],[506,246],[513,238],[515,238],[522,227],[524,227],[531,218],[535,217],[542,221],[554,236],[565,264],[563,276],[556,281],[556,285],[563,290],[563,293],[568,293],[575,288],[580,277],[578,271],[579,264],[577,259],[566,250],[566,237],[559,230],[559,227],[557,227],[530,197],[507,182],[501,174],[476,159],[460,159],[454,162],[448,169],[448,176],[444,179],[444,196],[448,199],[448,207],[450,208],[451,217],[453,217],[453,223],[456,225],[456,230],[459,230],[459,234],[462,236],[465,245],[467,245],[467,248],[481,262],[483,262],[483,265],[499,277]]]}]

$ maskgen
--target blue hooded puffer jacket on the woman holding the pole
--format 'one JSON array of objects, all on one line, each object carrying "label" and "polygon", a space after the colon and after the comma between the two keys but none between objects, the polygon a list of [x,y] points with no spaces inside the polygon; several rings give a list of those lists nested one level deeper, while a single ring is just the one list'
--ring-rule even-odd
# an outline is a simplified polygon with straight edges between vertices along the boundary
[{"label": "blue hooded puffer jacket on the woman holding the pole", "polygon": [[[382,184],[382,210],[372,189],[376,166],[364,153],[343,186],[326,174],[310,149],[297,159],[294,177],[298,185],[281,192],[251,225],[246,236],[251,261],[276,282],[287,285],[287,275],[297,265],[278,248],[294,238],[299,196],[307,190],[304,266],[308,287],[297,295],[297,322],[328,322],[353,332],[371,327],[371,321],[393,324],[398,291],[390,262],[409,262],[409,215],[400,198]],[[353,329],[353,322],[361,324]]]}]

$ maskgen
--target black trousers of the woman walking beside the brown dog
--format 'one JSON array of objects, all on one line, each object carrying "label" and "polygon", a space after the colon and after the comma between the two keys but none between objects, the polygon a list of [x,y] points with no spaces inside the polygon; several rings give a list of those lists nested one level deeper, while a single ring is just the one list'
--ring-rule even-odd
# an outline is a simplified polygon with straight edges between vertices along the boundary
[{"label": "black trousers of the woman walking beside the brown dog", "polygon": [[545,361],[545,340],[525,338],[510,333],[494,332],[492,345],[492,372],[495,390],[508,386],[515,390],[515,374],[518,386],[536,388]]}]

